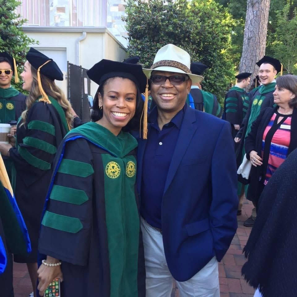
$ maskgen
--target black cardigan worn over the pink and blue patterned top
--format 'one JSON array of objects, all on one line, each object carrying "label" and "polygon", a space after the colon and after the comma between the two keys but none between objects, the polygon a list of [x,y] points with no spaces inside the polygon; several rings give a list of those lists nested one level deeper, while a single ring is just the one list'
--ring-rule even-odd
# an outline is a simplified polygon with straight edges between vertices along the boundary
[{"label": "black cardigan worn over the pink and blue patterned top", "polygon": [[[246,151],[247,159],[250,159],[250,152],[256,151],[258,156],[261,156],[262,151],[262,140],[264,131],[269,124],[273,113],[275,113],[278,109],[278,106],[275,108],[268,107],[264,109],[257,119],[253,122],[250,133],[245,139],[244,148]],[[293,109],[292,120],[291,120],[291,140],[288,149],[287,156],[297,148],[297,108]],[[270,146],[269,146],[270,149]],[[264,147],[264,154],[267,151]],[[266,156],[266,154],[265,154]],[[261,187],[259,183],[259,179],[261,178],[261,183],[264,182],[263,178],[265,178],[267,166],[268,166],[268,158],[263,158],[263,164],[261,166],[252,166],[250,173],[250,185],[248,187],[248,195],[247,199],[253,202],[258,201],[263,187]]]}]

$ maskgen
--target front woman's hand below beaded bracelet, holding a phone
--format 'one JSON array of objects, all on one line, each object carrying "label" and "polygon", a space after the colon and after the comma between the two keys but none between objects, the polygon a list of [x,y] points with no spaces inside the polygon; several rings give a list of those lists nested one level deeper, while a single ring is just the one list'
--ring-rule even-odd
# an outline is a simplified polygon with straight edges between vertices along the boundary
[{"label": "front woman's hand below beaded bracelet, holding a phone", "polygon": [[[58,263],[59,260],[47,256],[45,262],[53,264],[53,263]],[[62,274],[60,265],[45,266],[44,264],[41,264],[41,266],[37,270],[37,273],[38,273],[38,281],[39,281],[37,289],[39,290],[39,296],[44,295],[45,289],[55,278],[60,278],[60,281],[63,281],[63,274]]]}]

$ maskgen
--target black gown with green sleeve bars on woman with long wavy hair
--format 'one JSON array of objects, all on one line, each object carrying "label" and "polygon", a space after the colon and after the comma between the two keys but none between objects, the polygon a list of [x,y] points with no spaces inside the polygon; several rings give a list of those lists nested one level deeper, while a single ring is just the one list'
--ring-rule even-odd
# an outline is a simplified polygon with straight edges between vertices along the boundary
[{"label": "black gown with green sleeve bars on woman with long wavy hair", "polygon": [[40,217],[57,147],[68,131],[65,122],[65,114],[61,119],[54,104],[39,101],[28,111],[26,123],[18,124],[17,145],[10,149],[10,157],[15,166],[15,198],[28,228],[32,252],[28,257],[14,255],[15,262],[37,262]]}]

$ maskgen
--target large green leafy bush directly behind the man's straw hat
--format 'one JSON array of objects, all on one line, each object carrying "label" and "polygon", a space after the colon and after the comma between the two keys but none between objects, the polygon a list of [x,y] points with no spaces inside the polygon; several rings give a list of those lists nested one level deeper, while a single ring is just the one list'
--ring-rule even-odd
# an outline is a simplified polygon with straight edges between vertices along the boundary
[{"label": "large green leafy bush directly behind the man's straw hat", "polygon": [[129,55],[139,55],[145,68],[156,52],[168,43],[183,48],[191,61],[209,66],[203,89],[223,103],[234,78],[231,31],[235,20],[214,0],[129,0],[126,7]]}]

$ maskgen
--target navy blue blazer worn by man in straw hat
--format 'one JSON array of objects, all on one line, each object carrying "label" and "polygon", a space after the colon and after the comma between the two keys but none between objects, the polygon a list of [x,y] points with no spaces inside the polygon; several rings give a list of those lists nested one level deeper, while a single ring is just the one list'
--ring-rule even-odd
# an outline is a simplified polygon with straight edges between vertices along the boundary
[{"label": "navy blue blazer worn by man in straw hat", "polygon": [[[139,139],[139,193],[146,143]],[[163,244],[170,273],[187,281],[213,256],[221,261],[230,246],[237,229],[237,168],[230,123],[188,106],[172,145],[162,199]]]}]

